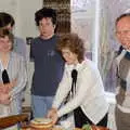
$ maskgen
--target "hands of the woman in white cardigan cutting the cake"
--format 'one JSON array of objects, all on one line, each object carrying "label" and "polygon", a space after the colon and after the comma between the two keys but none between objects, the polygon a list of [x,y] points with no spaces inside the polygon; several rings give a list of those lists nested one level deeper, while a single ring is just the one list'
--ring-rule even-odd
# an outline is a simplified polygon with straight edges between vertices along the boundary
[{"label": "hands of the woman in white cardigan cutting the cake", "polygon": [[56,108],[51,108],[48,113],[48,118],[51,118],[53,121],[53,125],[56,123],[58,117],[57,117],[57,109]]}]

